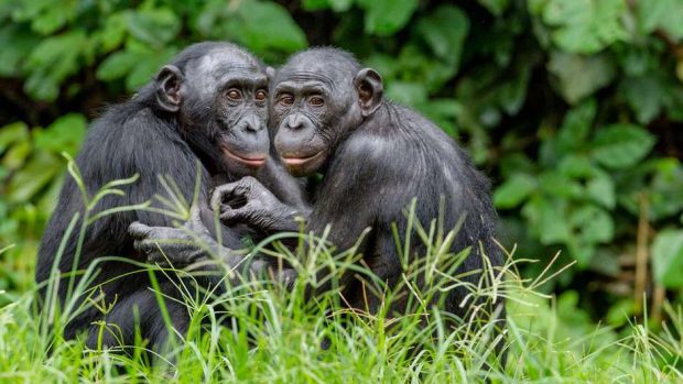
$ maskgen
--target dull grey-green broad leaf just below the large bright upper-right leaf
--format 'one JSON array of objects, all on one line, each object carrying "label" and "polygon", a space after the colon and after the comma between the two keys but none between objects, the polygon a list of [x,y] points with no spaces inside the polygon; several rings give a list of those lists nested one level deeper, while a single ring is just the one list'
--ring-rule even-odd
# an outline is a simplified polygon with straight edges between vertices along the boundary
[{"label": "dull grey-green broad leaf just below the large bright upper-right leaf", "polygon": [[551,52],[548,70],[557,77],[560,92],[572,105],[610,84],[616,75],[607,55],[586,57],[557,51]]}]

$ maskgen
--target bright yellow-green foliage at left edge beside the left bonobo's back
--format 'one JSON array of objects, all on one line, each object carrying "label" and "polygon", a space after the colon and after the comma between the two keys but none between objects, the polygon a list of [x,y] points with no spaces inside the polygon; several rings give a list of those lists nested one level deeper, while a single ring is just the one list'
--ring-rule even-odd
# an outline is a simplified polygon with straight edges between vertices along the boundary
[{"label": "bright yellow-green foliage at left edge beside the left bonobo's back", "polygon": [[32,286],[33,255],[62,187],[65,162],[61,153],[75,154],[85,130],[86,119],[76,113],[45,129],[29,130],[17,122],[0,130],[0,244],[21,239],[0,260],[0,289]]}]

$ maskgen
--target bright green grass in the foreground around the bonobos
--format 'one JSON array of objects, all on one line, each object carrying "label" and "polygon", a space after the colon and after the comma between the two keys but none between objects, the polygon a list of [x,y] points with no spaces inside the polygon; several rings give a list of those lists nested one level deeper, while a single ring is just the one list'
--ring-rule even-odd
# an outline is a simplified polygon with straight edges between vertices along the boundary
[{"label": "bright green grass in the foreground around the bonobos", "polygon": [[[77,169],[72,174],[77,176]],[[121,183],[128,182],[134,179]],[[109,184],[115,190],[109,193],[117,193],[121,183]],[[94,206],[97,196],[85,199],[86,206]],[[86,212],[86,217],[95,216]],[[473,283],[454,273],[468,253],[448,252],[452,231],[443,231],[436,220],[425,228],[410,222],[409,230],[415,234],[412,239],[425,248],[421,262],[408,262],[415,245],[408,240],[397,242],[403,281],[391,290],[358,267],[355,250],[338,253],[330,248],[325,241],[328,232],[321,238],[289,234],[311,244],[296,251],[277,243],[270,251],[264,248],[284,234],[257,244],[257,251],[294,265],[300,275],[294,287],[284,289],[267,281],[249,279],[228,285],[223,295],[185,295],[183,301],[192,317],[189,332],[176,334],[177,342],[163,355],[150,352],[153,364],[150,354],[143,353],[149,345],[141,338],[128,345],[127,352],[90,350],[80,340],[64,340],[63,325],[79,311],[75,298],[97,294],[69,275],[55,272],[47,286],[50,293],[55,292],[57,282],[68,284],[74,300],[64,306],[53,298],[39,311],[35,290],[19,296],[0,292],[10,301],[0,308],[0,382],[683,382],[683,308],[668,306],[668,320],[657,333],[649,325],[633,321],[618,331],[594,325],[577,308],[576,293],[560,297],[539,293],[555,277],[548,275],[550,267],[535,278],[522,278],[520,265],[533,261],[508,254],[503,266],[486,267],[479,282]],[[324,281],[316,273],[322,267],[330,271]],[[187,270],[143,264],[139,270],[152,276],[191,275]],[[378,314],[351,311],[344,306],[345,298],[334,283],[349,271],[362,276],[368,289],[383,297],[384,306]],[[95,273],[97,264],[84,272],[82,282]],[[416,281],[425,282],[422,288]],[[304,298],[306,285],[329,282],[333,288],[327,294]],[[429,305],[454,288],[469,293],[465,306],[470,310],[462,319],[449,319],[449,314]],[[184,286],[178,289],[186,292]],[[389,316],[390,303],[401,298],[408,298],[408,315]],[[505,337],[495,331],[495,323],[477,322],[488,308],[481,304],[498,298],[508,303]],[[97,305],[96,300],[86,303]],[[108,310],[106,306],[100,309]],[[455,329],[446,323],[455,325]],[[106,322],[99,326],[102,330],[115,327]],[[322,348],[324,342],[330,348]],[[508,351],[505,366],[497,362],[496,343]]]}]

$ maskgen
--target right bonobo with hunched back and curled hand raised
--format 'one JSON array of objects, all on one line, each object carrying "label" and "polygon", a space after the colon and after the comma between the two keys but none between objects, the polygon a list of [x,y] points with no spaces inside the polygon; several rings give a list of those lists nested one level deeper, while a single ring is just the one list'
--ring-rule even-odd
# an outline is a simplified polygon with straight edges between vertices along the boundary
[{"label": "right bonobo with hunched back and curled hand raised", "polygon": [[[359,252],[372,273],[392,287],[402,273],[392,223],[401,237],[405,234],[404,210],[416,198],[415,218],[422,224],[441,215],[445,230],[460,226],[451,250],[471,249],[454,275],[476,285],[486,264],[483,253],[494,267],[501,264],[492,239],[497,215],[488,180],[441,129],[386,100],[382,89],[376,70],[361,68],[350,54],[335,48],[296,54],[278,70],[270,96],[278,153],[294,175],[323,174],[306,232],[322,234],[330,224],[328,240],[346,250],[370,228]],[[281,205],[253,178],[220,186],[217,193],[218,199],[239,195],[248,201],[238,209],[224,206],[226,222],[297,230],[293,218],[302,212]],[[415,257],[424,246],[418,235],[412,238]],[[358,278],[347,276],[343,283],[345,301],[354,308],[376,311],[381,305],[380,297],[365,295]],[[468,293],[463,286],[449,290],[445,309],[464,316],[473,303],[462,306]],[[393,309],[404,305],[399,300]],[[502,326],[503,304],[490,305],[488,312],[495,310]]]}]

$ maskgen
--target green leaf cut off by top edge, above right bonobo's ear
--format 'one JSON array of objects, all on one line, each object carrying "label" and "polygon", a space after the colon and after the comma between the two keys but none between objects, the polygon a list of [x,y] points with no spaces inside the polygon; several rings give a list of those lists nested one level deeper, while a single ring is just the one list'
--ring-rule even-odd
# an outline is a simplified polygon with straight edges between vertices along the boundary
[{"label": "green leaf cut off by top edge, above right bonobo's ear", "polygon": [[418,8],[418,0],[356,0],[365,10],[365,30],[379,36],[389,36],[403,28]]}]

